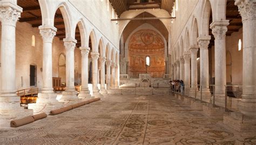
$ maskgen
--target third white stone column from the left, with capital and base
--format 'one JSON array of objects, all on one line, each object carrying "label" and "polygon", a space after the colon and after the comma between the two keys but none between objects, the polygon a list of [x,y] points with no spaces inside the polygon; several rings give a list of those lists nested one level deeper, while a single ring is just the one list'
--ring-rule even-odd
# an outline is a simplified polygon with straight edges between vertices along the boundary
[{"label": "third white stone column from the left, with capital and base", "polygon": [[62,92],[60,102],[77,100],[75,89],[75,47],[77,40],[72,38],[63,39],[66,48],[66,90]]}]

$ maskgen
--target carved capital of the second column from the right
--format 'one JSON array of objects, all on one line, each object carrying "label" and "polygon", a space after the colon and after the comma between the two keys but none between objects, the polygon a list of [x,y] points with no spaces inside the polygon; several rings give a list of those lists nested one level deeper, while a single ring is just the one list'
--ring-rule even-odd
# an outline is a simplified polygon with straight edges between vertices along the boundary
[{"label": "carved capital of the second column from the right", "polygon": [[223,40],[226,38],[226,32],[227,32],[227,25],[229,20],[223,20],[223,21],[214,21],[210,28],[212,29],[212,34],[214,35],[215,39]]}]

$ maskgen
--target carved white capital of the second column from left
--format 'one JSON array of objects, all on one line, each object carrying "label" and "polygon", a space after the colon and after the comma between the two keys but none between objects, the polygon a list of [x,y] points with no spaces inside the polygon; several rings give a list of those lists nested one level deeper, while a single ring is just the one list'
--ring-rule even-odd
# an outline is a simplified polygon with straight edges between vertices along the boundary
[{"label": "carved white capital of the second column from left", "polygon": [[52,43],[52,40],[56,35],[57,28],[53,26],[39,26],[38,28],[43,38],[43,41]]}]

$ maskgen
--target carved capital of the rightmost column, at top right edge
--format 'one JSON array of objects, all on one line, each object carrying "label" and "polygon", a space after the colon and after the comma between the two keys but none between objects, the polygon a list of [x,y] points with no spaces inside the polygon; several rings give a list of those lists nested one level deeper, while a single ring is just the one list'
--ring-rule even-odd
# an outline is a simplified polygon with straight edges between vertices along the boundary
[{"label": "carved capital of the rightmost column, at top right edge", "polygon": [[253,0],[235,0],[235,5],[238,6],[238,11],[241,14],[242,21],[255,19],[256,17],[256,2]]}]

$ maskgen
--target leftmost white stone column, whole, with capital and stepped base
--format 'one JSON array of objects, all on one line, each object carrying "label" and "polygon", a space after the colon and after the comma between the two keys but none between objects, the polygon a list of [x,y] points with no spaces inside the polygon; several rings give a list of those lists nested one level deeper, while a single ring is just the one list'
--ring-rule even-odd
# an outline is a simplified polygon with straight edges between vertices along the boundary
[{"label": "leftmost white stone column, whole, with capital and stepped base", "polygon": [[16,23],[21,17],[22,8],[12,3],[0,2],[2,22],[1,38],[1,93],[0,93],[0,128],[10,127],[10,121],[32,115],[32,110],[20,106],[16,95]]}]

